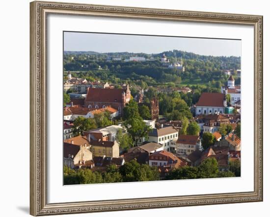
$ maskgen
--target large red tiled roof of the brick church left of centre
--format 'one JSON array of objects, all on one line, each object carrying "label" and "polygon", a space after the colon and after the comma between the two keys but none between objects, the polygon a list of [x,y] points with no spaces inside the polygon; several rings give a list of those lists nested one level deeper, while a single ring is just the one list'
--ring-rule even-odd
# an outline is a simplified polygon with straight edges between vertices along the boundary
[{"label": "large red tiled roof of the brick church left of centre", "polygon": [[122,102],[123,89],[88,88],[85,101]]}]

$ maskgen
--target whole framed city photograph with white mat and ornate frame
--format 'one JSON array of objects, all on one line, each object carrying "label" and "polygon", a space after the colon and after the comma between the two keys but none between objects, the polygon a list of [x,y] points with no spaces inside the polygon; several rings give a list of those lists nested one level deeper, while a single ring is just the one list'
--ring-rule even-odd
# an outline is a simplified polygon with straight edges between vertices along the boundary
[{"label": "whole framed city photograph with white mat and ornate frame", "polygon": [[30,3],[30,214],[263,200],[263,17]]}]

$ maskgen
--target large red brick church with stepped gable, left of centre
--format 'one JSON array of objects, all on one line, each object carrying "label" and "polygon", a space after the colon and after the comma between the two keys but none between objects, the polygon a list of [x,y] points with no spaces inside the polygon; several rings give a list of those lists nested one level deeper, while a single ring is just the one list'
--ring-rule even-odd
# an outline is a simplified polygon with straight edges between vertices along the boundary
[{"label": "large red brick church with stepped gable, left of centre", "polygon": [[119,115],[122,115],[123,108],[130,99],[129,85],[127,85],[126,89],[88,88],[84,107],[98,109],[110,105],[119,111]]}]

